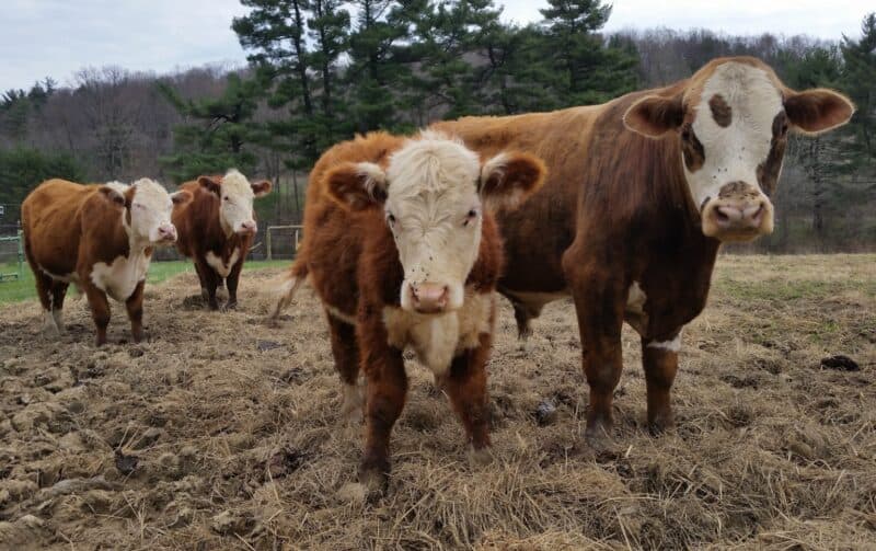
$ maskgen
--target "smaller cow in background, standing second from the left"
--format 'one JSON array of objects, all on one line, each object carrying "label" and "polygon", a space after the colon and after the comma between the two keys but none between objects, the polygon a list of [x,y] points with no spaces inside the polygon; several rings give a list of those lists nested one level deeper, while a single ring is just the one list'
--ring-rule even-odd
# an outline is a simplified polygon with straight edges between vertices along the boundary
[{"label": "smaller cow in background, standing second from the left", "polygon": [[193,199],[173,208],[180,238],[176,250],[195,263],[200,295],[210,310],[218,310],[216,289],[227,283],[226,309],[238,306],[238,282],[243,261],[257,231],[253,198],[270,193],[270,182],[250,183],[231,169],[224,176],[200,176],[180,186]]}]

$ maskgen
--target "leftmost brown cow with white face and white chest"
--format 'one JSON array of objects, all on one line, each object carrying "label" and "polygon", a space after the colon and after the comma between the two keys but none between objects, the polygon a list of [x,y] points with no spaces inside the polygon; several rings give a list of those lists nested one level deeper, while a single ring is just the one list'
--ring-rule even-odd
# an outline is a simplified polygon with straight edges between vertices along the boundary
[{"label": "leftmost brown cow with white face and white chest", "polygon": [[31,192],[21,206],[24,253],[34,273],[46,330],[64,330],[61,309],[72,283],[88,297],[97,346],[106,342],[107,296],[125,302],[134,341],[139,342],[152,249],[176,240],[171,209],[188,199],[188,192],[171,195],[149,179],[131,185],[49,180]]}]

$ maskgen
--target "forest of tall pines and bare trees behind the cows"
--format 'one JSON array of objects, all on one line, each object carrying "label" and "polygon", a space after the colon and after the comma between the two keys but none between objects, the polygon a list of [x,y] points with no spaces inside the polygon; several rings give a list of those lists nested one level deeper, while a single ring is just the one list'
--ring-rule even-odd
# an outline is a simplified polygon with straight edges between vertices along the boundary
[{"label": "forest of tall pines and bare trees behind the cows", "polygon": [[[603,33],[600,0],[549,0],[543,20],[500,21],[492,0],[241,0],[229,24],[246,67],[174,74],[84,68],[0,95],[0,226],[42,180],[157,177],[238,167],[273,179],[268,223],[300,220],[307,171],[331,145],[440,118],[550,111],[683,79],[714,57],[756,56],[795,89],[830,87],[852,123],[795,137],[776,229],[748,250],[876,250],[876,15],[861,33],[730,36],[707,30]],[[719,25],[719,22],[715,22]],[[781,30],[780,30],[781,31]],[[54,76],[62,77],[62,76]],[[736,249],[739,250],[739,249]]]}]

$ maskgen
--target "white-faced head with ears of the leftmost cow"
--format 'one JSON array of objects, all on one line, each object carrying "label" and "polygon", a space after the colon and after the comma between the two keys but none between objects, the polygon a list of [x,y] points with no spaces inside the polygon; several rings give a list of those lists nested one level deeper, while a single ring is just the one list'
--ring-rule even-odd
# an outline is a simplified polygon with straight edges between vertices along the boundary
[{"label": "white-faced head with ears of the leftmost cow", "polygon": [[192,198],[185,191],[169,194],[164,186],[147,177],[129,186],[111,182],[101,192],[125,208],[122,223],[128,236],[150,245],[169,245],[176,241],[176,228],[171,223],[173,205]]}]

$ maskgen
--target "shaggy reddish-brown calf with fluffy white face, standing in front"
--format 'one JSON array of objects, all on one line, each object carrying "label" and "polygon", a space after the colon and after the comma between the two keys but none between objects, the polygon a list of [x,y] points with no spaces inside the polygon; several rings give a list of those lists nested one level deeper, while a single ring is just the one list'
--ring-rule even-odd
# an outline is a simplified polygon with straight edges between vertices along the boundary
[{"label": "shaggy reddish-brown calf with fluffy white face, standing in front", "polygon": [[361,415],[357,380],[365,372],[360,480],[369,485],[382,485],[389,472],[408,346],[442,383],[474,450],[488,446],[485,364],[503,263],[484,203],[516,205],[543,173],[526,153],[499,152],[482,163],[438,133],[357,137],[314,167],[304,240],[286,291],[309,276],[322,299],[350,418]]}]

